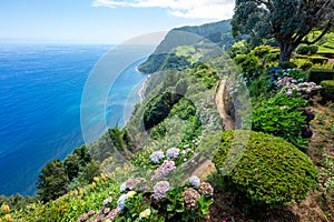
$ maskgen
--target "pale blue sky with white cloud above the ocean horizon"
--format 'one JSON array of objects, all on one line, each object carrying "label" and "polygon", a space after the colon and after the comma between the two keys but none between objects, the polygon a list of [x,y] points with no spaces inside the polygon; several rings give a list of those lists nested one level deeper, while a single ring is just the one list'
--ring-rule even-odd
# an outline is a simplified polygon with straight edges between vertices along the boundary
[{"label": "pale blue sky with white cloud above the ocean horizon", "polygon": [[228,19],[234,0],[0,0],[0,42],[120,43]]}]

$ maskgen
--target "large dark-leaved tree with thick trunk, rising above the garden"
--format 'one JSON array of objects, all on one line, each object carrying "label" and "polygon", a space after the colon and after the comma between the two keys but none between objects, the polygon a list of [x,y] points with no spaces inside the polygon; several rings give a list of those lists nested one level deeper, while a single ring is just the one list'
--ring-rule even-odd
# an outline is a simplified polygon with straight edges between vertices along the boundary
[{"label": "large dark-leaved tree with thick trunk, rising above the garden", "polygon": [[[236,0],[232,19],[234,37],[248,34],[254,41],[275,38],[279,62],[288,61],[298,44],[314,44],[333,28],[333,0]],[[307,34],[321,30],[312,41]]]}]

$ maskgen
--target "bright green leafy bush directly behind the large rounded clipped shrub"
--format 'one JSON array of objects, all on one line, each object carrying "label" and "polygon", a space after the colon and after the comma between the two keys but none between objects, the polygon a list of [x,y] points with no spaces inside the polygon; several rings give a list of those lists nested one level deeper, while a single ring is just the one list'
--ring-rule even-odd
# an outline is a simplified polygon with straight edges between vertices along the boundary
[{"label": "bright green leafy bush directly behind the large rounded clipped shrub", "polygon": [[284,138],[302,150],[306,147],[306,140],[302,138],[305,128],[305,117],[297,108],[305,108],[307,101],[302,98],[292,98],[286,94],[277,94],[253,110],[252,118],[245,117],[244,121],[252,121],[254,131],[265,132]]}]

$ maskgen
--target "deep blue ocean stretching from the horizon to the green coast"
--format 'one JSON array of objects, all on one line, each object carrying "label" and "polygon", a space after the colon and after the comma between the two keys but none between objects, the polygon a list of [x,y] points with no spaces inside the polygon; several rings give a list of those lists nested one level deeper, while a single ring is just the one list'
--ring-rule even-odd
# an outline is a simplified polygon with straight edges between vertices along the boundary
[{"label": "deep blue ocean stretching from the horizon to the green coast", "polygon": [[[85,143],[82,90],[111,48],[0,46],[0,194],[35,194],[41,168]],[[121,61],[127,56],[117,57]],[[115,80],[105,104],[107,127],[124,125],[129,118],[125,115],[140,100],[138,91],[146,75],[136,67],[144,59],[127,65]]]}]

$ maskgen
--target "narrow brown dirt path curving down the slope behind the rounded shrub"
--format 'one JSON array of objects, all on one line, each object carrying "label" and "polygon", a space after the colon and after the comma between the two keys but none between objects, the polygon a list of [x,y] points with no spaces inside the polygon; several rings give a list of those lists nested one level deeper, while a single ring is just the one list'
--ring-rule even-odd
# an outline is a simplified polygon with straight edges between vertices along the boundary
[{"label": "narrow brown dirt path curving down the slope behind the rounded shrub", "polygon": [[220,118],[223,119],[224,129],[233,130],[235,128],[234,121],[230,115],[228,115],[225,111],[224,105],[224,90],[225,90],[226,80],[220,80],[218,90],[216,93],[216,104],[219,112]]}]

